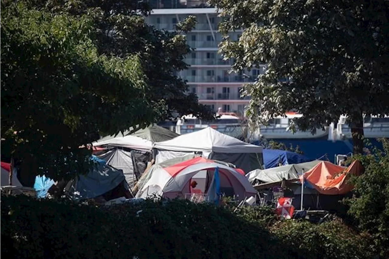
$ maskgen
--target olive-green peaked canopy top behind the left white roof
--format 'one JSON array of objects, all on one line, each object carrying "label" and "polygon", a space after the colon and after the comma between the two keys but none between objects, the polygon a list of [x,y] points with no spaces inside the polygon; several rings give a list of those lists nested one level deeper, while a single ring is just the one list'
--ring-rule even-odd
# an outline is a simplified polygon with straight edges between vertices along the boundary
[{"label": "olive-green peaked canopy top behind the left white roof", "polygon": [[98,140],[98,142],[110,140],[112,138],[120,138],[120,137],[125,137],[128,135],[133,135],[135,137],[143,138],[145,140],[149,140],[149,141],[154,143],[154,142],[161,142],[161,141],[165,141],[165,140],[170,140],[172,138],[179,136],[177,133],[175,133],[171,130],[165,129],[165,128],[158,126],[158,125],[150,125],[144,129],[138,129],[134,133],[130,134],[132,129],[133,128],[130,128],[129,130],[124,131],[123,134],[121,132],[119,132],[119,134],[117,134],[116,137],[115,137],[115,135],[105,136],[103,138],[100,138],[100,140]]}]

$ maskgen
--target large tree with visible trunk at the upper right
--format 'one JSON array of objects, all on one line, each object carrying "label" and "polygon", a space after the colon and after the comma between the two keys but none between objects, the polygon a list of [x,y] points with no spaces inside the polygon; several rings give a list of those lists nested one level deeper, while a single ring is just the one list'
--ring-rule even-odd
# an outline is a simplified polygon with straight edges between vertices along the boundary
[{"label": "large tree with visible trunk at the upper right", "polygon": [[247,115],[252,127],[295,110],[301,130],[348,116],[354,153],[363,149],[363,114],[389,112],[389,2],[211,0],[226,18],[220,29],[244,28],[220,45],[234,70],[268,64],[254,84]]}]

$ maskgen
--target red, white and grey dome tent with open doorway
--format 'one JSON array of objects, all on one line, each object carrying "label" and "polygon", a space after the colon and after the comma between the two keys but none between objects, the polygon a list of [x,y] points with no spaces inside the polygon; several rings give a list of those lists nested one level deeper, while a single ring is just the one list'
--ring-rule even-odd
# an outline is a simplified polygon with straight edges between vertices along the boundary
[{"label": "red, white and grey dome tent with open doorway", "polygon": [[[159,195],[164,198],[186,198],[187,194],[203,194],[210,191],[215,168],[219,168],[220,192],[234,195],[236,200],[244,200],[257,194],[241,170],[216,163],[213,160],[197,157],[184,162],[150,170],[145,175],[145,182],[139,186],[136,198],[147,198],[149,195]],[[205,188],[199,193],[193,189],[192,178],[199,172],[205,174]]]}]

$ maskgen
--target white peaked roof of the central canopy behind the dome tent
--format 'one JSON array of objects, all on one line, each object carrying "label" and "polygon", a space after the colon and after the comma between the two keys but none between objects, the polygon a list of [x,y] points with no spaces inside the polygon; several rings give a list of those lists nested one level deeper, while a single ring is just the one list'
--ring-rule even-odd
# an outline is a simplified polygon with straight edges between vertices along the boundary
[{"label": "white peaked roof of the central canopy behind the dome tent", "polygon": [[261,153],[263,147],[248,144],[210,127],[154,143],[156,149],[186,152]]}]

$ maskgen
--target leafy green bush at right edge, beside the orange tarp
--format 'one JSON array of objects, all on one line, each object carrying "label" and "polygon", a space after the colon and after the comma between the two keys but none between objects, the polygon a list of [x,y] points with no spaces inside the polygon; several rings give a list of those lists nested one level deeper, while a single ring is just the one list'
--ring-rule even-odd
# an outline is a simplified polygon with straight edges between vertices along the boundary
[{"label": "leafy green bush at right edge, beside the orange tarp", "polygon": [[374,148],[367,155],[351,158],[361,161],[365,171],[352,179],[354,196],[345,203],[359,229],[373,237],[376,250],[385,256],[389,254],[389,141],[381,142],[382,150]]}]

